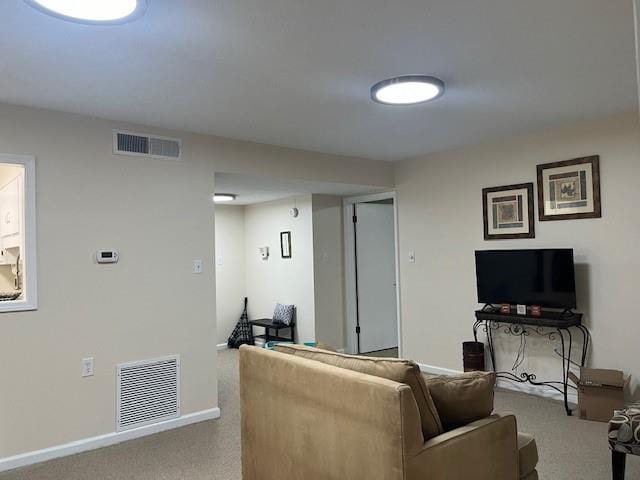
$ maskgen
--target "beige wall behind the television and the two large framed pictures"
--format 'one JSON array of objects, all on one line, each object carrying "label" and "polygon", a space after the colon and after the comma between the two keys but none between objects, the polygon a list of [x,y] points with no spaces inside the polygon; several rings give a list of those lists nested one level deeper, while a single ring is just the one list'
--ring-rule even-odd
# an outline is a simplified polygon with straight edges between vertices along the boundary
[{"label": "beige wall behind the television and the two large framed pictures", "polygon": [[[600,155],[602,218],[536,222],[531,240],[484,241],[483,187],[535,182],[536,165]],[[472,339],[474,250],[572,247],[578,308],[593,335],[590,364],[633,375],[637,388],[637,320],[640,287],[640,128],[636,112],[509,139],[475,148],[429,155],[398,164],[403,343],[406,356],[460,370],[461,342]],[[536,214],[537,218],[537,214]],[[410,251],[416,263],[408,263]],[[534,357],[525,367],[560,378],[558,357],[548,344],[529,339]],[[513,363],[517,344],[502,341]],[[538,343],[539,342],[539,343]]]}]

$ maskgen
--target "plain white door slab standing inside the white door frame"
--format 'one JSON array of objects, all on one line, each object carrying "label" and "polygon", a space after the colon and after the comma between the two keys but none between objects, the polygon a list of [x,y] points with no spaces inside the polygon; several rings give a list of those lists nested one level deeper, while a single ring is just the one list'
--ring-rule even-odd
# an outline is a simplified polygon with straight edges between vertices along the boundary
[{"label": "plain white door slab standing inside the white door frame", "polygon": [[355,205],[360,353],[398,346],[394,212],[391,203]]}]

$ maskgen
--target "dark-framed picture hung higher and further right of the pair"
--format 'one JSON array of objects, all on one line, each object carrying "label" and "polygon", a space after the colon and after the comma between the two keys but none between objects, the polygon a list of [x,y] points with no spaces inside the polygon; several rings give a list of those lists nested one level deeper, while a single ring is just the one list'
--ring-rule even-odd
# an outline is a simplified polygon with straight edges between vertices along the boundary
[{"label": "dark-framed picture hung higher and further right of the pair", "polygon": [[538,165],[538,217],[547,220],[600,218],[600,157]]}]

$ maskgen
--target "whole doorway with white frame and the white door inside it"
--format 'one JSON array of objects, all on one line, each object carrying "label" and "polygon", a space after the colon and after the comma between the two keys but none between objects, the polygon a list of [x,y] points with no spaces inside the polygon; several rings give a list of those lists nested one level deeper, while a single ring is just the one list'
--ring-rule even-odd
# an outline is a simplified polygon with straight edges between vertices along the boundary
[{"label": "whole doorway with white frame and the white door inside it", "polygon": [[347,340],[352,353],[401,355],[395,192],[344,200]]}]

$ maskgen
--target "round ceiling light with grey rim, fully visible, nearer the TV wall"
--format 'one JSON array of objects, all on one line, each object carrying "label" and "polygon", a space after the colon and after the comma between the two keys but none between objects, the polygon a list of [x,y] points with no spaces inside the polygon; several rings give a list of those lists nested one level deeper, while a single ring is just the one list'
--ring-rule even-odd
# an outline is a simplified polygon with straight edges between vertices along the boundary
[{"label": "round ceiling light with grey rim, fully visible, nearer the TV wall", "polygon": [[371,99],[385,105],[415,105],[444,93],[444,82],[427,75],[404,75],[383,80],[371,87]]}]

